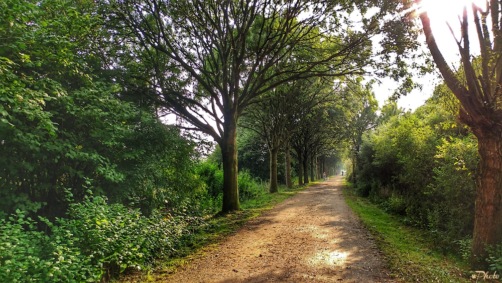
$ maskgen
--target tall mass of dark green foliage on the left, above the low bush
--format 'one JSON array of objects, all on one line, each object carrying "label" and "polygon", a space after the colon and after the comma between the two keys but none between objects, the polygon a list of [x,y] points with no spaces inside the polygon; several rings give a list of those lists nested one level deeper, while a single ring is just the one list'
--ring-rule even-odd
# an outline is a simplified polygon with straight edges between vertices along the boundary
[{"label": "tall mass of dark green foliage on the left, above the low bush", "polygon": [[0,208],[8,215],[64,217],[64,188],[82,200],[87,178],[95,194],[147,214],[203,190],[195,144],[151,104],[124,101],[99,71],[100,54],[89,50],[104,38],[94,9],[89,1],[0,2]]}]

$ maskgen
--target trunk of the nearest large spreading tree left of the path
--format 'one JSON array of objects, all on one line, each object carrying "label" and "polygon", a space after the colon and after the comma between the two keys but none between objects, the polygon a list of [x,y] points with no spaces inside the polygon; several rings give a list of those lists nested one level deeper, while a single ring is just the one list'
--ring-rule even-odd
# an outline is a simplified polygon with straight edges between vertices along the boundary
[{"label": "trunk of the nearest large spreading tree left of the path", "polygon": [[237,185],[237,123],[225,126],[227,127],[225,127],[220,144],[223,157],[223,205],[221,208],[223,213],[240,210]]}]

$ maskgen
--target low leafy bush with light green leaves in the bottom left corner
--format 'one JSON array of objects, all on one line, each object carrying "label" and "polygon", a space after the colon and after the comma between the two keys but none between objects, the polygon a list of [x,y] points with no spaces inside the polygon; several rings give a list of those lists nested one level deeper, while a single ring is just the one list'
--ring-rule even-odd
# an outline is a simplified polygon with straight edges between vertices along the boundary
[{"label": "low leafy bush with light green leaves in the bottom left corner", "polygon": [[[0,220],[0,281],[97,282],[103,276],[130,268],[142,269],[154,257],[169,255],[201,219],[107,204],[106,198],[88,196],[71,203],[68,218],[37,231],[26,212]],[[72,196],[68,191],[68,196]]]}]

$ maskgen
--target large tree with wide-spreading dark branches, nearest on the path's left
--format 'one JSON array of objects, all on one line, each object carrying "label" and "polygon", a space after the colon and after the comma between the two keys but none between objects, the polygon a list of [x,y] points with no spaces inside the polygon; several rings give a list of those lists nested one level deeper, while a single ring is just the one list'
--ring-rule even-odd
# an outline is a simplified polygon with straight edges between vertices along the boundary
[{"label": "large tree with wide-spreading dark branches, nearest on the path's left", "polygon": [[[128,70],[123,75],[134,84],[127,87],[219,144],[222,212],[240,209],[236,133],[249,104],[288,81],[358,74],[371,64],[368,33],[342,23],[340,13],[354,10],[351,1],[115,0],[109,8],[112,39],[128,49],[110,55],[118,58],[110,65]],[[377,30],[375,21],[363,25]]]}]

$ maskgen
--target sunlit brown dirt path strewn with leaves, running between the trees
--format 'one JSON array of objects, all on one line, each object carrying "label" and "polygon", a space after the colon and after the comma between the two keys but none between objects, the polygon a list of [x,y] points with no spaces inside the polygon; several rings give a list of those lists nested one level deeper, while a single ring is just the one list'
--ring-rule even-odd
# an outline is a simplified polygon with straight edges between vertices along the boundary
[{"label": "sunlit brown dirt path strewn with leaves, running between the trees", "polygon": [[286,199],[165,282],[393,282],[341,177]]}]

